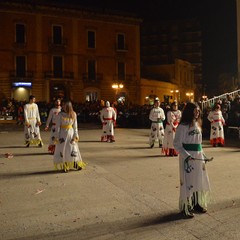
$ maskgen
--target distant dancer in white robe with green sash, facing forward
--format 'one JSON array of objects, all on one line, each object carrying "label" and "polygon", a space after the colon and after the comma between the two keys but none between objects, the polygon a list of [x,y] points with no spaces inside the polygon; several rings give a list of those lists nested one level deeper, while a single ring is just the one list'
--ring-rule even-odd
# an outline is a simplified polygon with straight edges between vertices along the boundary
[{"label": "distant dancer in white robe with green sash, facing forward", "polygon": [[165,120],[165,113],[160,107],[160,101],[156,99],[154,101],[154,107],[150,111],[149,119],[152,121],[151,132],[149,135],[149,144],[150,147],[154,147],[156,139],[158,140],[159,147],[162,147],[163,138],[164,138],[164,127],[163,121]]}]

